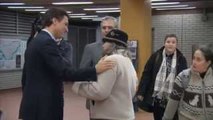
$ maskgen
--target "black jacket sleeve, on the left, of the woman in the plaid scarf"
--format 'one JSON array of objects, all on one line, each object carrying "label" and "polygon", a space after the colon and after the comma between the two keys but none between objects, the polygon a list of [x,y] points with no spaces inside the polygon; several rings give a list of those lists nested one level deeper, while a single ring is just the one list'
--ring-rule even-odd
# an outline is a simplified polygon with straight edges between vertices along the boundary
[{"label": "black jacket sleeve, on the left, of the woman in the plaid scarf", "polygon": [[144,67],[144,71],[138,86],[138,91],[137,91],[137,95],[142,95],[144,96],[144,94],[146,93],[146,90],[152,80],[152,71],[153,71],[153,59],[155,59],[155,55],[151,55],[150,58],[148,59],[145,67]]}]

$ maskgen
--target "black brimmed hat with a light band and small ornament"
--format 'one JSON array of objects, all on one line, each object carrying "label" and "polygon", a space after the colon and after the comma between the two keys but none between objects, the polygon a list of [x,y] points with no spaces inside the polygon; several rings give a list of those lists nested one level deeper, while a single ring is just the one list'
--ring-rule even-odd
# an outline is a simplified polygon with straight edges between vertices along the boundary
[{"label": "black brimmed hat with a light band and small ornament", "polygon": [[122,30],[112,29],[104,38],[103,42],[114,42],[127,47],[128,35]]}]

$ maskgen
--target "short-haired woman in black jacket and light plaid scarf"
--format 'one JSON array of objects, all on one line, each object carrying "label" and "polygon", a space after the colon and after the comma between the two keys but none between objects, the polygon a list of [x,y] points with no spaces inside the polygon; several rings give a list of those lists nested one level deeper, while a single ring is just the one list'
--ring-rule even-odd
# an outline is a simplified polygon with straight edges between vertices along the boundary
[{"label": "short-haired woman in black jacket and light plaid scarf", "polygon": [[137,96],[142,100],[139,107],[153,112],[155,120],[162,119],[175,76],[187,68],[186,59],[176,45],[174,34],[165,37],[164,46],[147,61],[138,87]]}]

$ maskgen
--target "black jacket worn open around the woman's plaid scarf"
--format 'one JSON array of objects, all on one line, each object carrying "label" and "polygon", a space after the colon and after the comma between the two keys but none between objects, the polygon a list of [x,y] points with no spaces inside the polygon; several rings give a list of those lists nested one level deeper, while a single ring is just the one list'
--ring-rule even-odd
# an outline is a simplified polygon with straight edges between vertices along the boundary
[{"label": "black jacket worn open around the woman's plaid scarf", "polygon": [[[139,104],[139,107],[147,112],[152,112],[152,103],[153,103],[153,91],[155,85],[156,75],[160,69],[163,56],[164,47],[160,48],[158,51],[153,53],[149,60],[147,61],[140,84],[138,86],[137,95],[142,95],[143,101]],[[177,49],[177,65],[176,65],[176,75],[182,70],[187,68],[186,58],[183,54]]]}]

